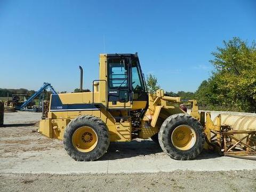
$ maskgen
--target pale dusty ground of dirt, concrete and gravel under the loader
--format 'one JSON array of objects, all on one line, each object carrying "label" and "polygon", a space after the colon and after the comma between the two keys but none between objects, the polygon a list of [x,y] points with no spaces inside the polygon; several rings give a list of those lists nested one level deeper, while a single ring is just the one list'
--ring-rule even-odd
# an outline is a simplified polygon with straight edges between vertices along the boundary
[{"label": "pale dusty ground of dirt, concrete and gravel under the loader", "polygon": [[5,126],[0,127],[2,191],[256,190],[256,161],[207,151],[193,161],[176,161],[151,140],[111,143],[99,161],[76,162],[61,141],[35,132],[40,117],[5,113]]}]

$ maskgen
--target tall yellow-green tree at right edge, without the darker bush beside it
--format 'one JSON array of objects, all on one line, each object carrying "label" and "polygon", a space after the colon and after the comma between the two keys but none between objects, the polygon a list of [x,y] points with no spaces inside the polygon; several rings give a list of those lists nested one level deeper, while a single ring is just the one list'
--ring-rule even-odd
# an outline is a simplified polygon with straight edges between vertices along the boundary
[{"label": "tall yellow-green tree at right edge, without the darker bush beside it", "polygon": [[[218,91],[234,107],[245,111],[256,110],[256,46],[238,37],[223,41],[217,47],[211,63],[215,67],[213,77],[218,79]],[[226,103],[225,103],[226,104]]]}]

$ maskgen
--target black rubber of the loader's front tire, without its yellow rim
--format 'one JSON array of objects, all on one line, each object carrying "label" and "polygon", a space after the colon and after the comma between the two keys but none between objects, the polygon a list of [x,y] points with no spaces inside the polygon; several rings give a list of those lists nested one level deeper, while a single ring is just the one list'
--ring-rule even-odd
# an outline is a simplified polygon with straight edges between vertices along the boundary
[{"label": "black rubber of the loader's front tire, without its yellow rim", "polygon": [[[180,150],[175,147],[171,138],[174,129],[181,125],[191,127],[196,134],[196,141],[188,150]],[[175,114],[165,119],[158,133],[158,140],[163,151],[171,158],[189,160],[194,159],[202,152],[205,134],[202,125],[194,117],[187,114]]]}]

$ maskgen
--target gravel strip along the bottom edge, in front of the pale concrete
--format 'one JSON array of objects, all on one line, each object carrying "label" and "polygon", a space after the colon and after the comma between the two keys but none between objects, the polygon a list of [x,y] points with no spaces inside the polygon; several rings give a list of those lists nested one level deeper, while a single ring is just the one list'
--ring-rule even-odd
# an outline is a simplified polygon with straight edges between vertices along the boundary
[{"label": "gravel strip along the bottom edge, in front of the pale concrete", "polygon": [[1,191],[256,191],[256,171],[0,174]]}]

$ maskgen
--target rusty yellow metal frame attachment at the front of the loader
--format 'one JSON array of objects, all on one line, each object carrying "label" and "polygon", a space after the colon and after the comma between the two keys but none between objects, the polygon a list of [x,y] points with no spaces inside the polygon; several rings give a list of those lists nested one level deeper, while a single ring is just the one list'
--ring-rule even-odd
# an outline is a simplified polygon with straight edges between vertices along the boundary
[{"label": "rusty yellow metal frame attachment at the front of the loader", "polygon": [[[254,118],[251,119],[254,122]],[[226,120],[226,117],[223,121],[222,115],[218,115],[212,121],[211,114],[206,113],[205,133],[207,142],[205,148],[215,149],[225,156],[256,160],[256,157],[252,156],[256,155],[256,127],[250,126],[249,129],[248,126],[243,127],[240,124],[238,129],[237,121],[235,121],[236,126],[234,126],[231,122],[227,124]]]}]

